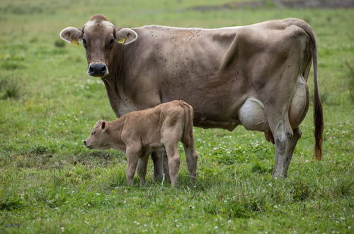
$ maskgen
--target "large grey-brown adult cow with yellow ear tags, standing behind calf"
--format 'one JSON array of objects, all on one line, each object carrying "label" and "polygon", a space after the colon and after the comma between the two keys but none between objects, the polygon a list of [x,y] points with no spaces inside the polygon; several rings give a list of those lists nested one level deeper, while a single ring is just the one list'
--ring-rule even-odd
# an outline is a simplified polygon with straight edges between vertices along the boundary
[{"label": "large grey-brown adult cow with yellow ear tags, standing behind calf", "polygon": [[321,160],[316,38],[300,19],[215,29],[119,28],[97,14],[59,35],[83,43],[87,73],[102,79],[116,116],[182,99],[193,106],[194,126],[263,132],[275,145],[273,178],[286,176],[302,135],[313,63],[314,155]]}]

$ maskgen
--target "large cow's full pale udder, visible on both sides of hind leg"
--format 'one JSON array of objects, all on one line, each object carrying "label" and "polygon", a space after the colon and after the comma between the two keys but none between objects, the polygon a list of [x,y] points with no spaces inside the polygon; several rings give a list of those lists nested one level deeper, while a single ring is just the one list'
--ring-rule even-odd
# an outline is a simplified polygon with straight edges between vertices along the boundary
[{"label": "large cow's full pale udder, visible on both sides of hind leg", "polygon": [[[309,91],[302,76],[297,79],[297,88],[289,106],[289,121],[292,129],[295,129],[304,119],[309,107]],[[248,130],[269,130],[265,117],[264,105],[253,96],[250,96],[238,112],[239,122]]]}]

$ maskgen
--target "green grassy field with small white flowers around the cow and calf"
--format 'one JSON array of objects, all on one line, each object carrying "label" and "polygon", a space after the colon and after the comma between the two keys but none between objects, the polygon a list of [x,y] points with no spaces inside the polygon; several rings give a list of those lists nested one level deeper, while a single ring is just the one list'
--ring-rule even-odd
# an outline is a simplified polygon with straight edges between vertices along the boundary
[{"label": "green grassy field with small white flowers around the cow and calf", "polygon": [[[0,2],[0,233],[353,233],[354,10],[198,11],[228,1]],[[269,4],[270,3],[270,4]],[[212,8],[211,8],[212,9]],[[82,140],[113,120],[84,48],[59,31],[104,13],[120,27],[215,28],[302,18],[318,37],[324,160],[313,160],[312,106],[287,179],[271,179],[273,145],[242,127],[195,128],[198,180],[127,187],[125,155]],[[313,77],[309,77],[313,94]],[[312,104],[311,104],[312,105]],[[181,146],[181,145],[180,145]]]}]

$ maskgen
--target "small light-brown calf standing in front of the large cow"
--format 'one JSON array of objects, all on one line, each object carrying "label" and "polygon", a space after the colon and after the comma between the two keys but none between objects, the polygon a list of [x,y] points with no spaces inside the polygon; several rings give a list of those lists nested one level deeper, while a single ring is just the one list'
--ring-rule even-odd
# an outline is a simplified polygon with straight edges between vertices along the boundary
[{"label": "small light-brown calf standing in front of the large cow", "polygon": [[112,122],[98,121],[84,145],[89,149],[114,148],[125,152],[128,185],[133,184],[135,169],[140,183],[144,184],[149,153],[165,147],[171,184],[176,186],[180,164],[178,141],[183,143],[190,180],[194,182],[198,153],[193,140],[193,108],[184,101],[171,101],[130,112]]}]

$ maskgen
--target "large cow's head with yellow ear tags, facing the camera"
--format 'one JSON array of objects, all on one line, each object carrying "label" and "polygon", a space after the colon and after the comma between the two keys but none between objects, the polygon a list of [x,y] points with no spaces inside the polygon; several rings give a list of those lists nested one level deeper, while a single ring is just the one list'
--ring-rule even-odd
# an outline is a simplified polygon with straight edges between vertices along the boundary
[{"label": "large cow's head with yellow ear tags, facing the camera", "polygon": [[104,77],[109,73],[108,66],[113,62],[113,51],[119,46],[118,43],[127,45],[137,39],[134,30],[116,28],[103,15],[92,16],[81,29],[64,28],[59,35],[73,45],[79,45],[82,41],[89,65],[87,73],[93,77]]}]

